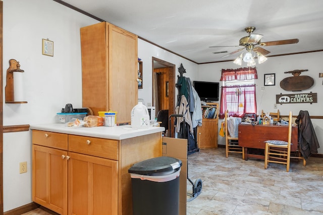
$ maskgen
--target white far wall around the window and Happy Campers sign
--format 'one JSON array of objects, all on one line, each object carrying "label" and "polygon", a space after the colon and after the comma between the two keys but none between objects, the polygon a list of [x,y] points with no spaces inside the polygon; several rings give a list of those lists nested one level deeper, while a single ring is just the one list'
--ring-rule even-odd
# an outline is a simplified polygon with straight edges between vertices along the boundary
[{"label": "white far wall around the window and Happy Campers sign", "polygon": [[[307,54],[295,54],[280,57],[268,57],[268,60],[262,64],[256,64],[258,79],[256,84],[256,98],[257,98],[257,113],[260,114],[261,110],[268,112],[275,112],[274,104],[276,103],[276,95],[278,94],[293,94],[294,92],[285,91],[280,87],[280,82],[287,77],[291,77],[291,74],[284,74],[285,71],[291,71],[294,69],[308,69],[304,71],[301,76],[310,76],[314,79],[314,85],[307,90],[301,91],[302,93],[317,93],[317,103],[309,104],[283,104],[277,105],[281,115],[288,115],[289,111],[293,112],[293,115],[298,115],[300,110],[307,110],[311,116],[322,116],[323,94],[322,94],[322,82],[323,78],[318,78],[318,73],[322,73],[321,59],[323,59],[323,52],[314,52]],[[244,65],[242,65],[244,66]],[[198,81],[217,81],[220,82],[222,68],[238,68],[233,62],[223,63],[209,63],[198,65]],[[276,74],[276,85],[264,87],[264,74]],[[222,85],[222,82],[220,82]],[[264,87],[264,90],[261,90]],[[300,93],[300,92],[295,92]],[[220,101],[219,101],[220,102]],[[323,120],[312,119],[312,123],[315,129],[316,136],[320,143],[318,149],[319,154],[323,154]],[[220,129],[221,120],[219,122]],[[220,145],[225,145],[225,138],[219,136]]]}]

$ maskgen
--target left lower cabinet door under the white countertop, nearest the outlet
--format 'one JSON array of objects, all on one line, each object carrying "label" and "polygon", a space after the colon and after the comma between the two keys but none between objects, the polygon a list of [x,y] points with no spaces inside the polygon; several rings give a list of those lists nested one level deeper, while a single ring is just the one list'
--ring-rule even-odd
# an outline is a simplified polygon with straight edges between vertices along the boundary
[{"label": "left lower cabinet door under the white countertop, nearest the outlet", "polygon": [[32,152],[32,200],[66,215],[67,151],[32,145]]}]

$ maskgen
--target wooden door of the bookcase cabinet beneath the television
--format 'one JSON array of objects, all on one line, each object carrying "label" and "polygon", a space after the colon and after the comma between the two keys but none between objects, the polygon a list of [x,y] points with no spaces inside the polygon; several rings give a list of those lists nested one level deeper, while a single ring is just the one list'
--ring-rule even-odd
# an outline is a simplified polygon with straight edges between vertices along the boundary
[{"label": "wooden door of the bookcase cabinet beneath the television", "polygon": [[198,126],[197,141],[200,149],[218,147],[217,119],[203,119],[202,126]]}]

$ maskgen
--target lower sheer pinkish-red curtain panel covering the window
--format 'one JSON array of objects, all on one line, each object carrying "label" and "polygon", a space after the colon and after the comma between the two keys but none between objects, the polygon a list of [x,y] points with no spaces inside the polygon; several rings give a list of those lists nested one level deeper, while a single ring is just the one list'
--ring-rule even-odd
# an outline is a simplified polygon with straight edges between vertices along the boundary
[{"label": "lower sheer pinkish-red curtain panel covering the window", "polygon": [[256,86],[223,86],[219,117],[223,119],[228,110],[229,116],[243,117],[244,113],[256,113]]}]

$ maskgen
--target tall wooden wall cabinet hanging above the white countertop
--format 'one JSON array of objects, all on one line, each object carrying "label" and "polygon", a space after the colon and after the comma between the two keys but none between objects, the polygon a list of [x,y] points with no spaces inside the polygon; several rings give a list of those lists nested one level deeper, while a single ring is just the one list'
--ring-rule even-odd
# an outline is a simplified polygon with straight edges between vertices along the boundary
[{"label": "tall wooden wall cabinet hanging above the white countertop", "polygon": [[81,28],[82,105],[129,122],[138,103],[138,36],[107,22]]}]

